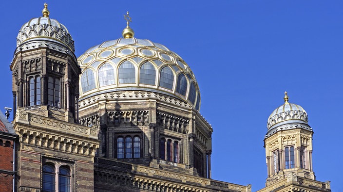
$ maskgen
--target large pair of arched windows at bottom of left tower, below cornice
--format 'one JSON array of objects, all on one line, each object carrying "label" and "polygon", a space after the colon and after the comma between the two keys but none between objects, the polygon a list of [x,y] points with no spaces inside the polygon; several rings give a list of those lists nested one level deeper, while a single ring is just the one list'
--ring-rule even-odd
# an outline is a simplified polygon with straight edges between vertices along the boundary
[{"label": "large pair of arched windows at bottom of left tower, below cornice", "polygon": [[[58,170],[52,164],[43,166],[43,192],[70,192],[70,168],[61,166]],[[58,183],[57,183],[58,178]]]}]

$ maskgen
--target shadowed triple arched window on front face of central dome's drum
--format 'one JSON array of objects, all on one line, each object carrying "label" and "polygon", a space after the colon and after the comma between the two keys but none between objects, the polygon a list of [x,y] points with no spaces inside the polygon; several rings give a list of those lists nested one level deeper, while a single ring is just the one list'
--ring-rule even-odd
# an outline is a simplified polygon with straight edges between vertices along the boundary
[{"label": "shadowed triple arched window on front face of central dome's drum", "polygon": [[140,158],[140,138],[138,136],[130,136],[117,138],[117,158],[132,159]]}]

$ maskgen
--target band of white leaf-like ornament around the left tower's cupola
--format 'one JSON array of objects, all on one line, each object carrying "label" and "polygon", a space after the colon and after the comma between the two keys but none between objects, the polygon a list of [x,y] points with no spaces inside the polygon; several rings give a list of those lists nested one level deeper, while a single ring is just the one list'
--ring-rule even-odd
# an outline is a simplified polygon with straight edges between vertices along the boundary
[{"label": "band of white leaf-like ornament around the left tower's cupola", "polygon": [[65,32],[62,28],[50,24],[40,23],[25,26],[19,31],[17,36],[17,47],[25,42],[25,40],[34,37],[47,37],[56,39],[75,52],[74,40],[68,32]]}]

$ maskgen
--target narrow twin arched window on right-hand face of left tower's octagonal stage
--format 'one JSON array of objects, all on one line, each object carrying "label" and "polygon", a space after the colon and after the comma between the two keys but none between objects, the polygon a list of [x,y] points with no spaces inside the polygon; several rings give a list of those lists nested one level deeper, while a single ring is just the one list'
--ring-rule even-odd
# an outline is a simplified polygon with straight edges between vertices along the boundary
[{"label": "narrow twin arched window on right-hand face of left tower's octagonal stage", "polygon": [[48,105],[60,107],[61,106],[61,86],[59,78],[48,78]]}]

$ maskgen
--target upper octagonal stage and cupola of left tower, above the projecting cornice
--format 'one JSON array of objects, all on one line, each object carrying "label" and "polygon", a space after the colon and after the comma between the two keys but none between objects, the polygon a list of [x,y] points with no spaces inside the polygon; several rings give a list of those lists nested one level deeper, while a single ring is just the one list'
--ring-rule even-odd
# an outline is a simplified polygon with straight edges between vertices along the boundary
[{"label": "upper octagonal stage and cupola of left tower, above the projecting cornice", "polygon": [[49,14],[45,3],[42,16],[29,20],[18,33],[10,66],[14,113],[22,108],[74,123],[80,67],[72,36]]}]

